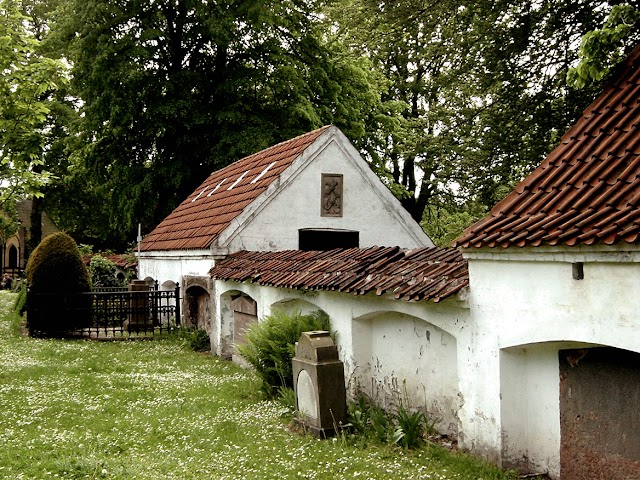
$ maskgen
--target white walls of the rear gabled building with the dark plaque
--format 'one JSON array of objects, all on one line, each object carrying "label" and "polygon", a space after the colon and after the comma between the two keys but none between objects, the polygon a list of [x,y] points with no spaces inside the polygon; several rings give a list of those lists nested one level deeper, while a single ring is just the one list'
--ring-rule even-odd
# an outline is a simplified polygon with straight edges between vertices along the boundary
[{"label": "white walls of the rear gabled building with the dark plaque", "polygon": [[[340,217],[320,214],[323,173],[343,176]],[[361,247],[433,246],[347,137],[330,127],[220,233],[209,249],[143,251],[138,276],[160,283],[182,283],[183,276],[207,276],[216,258],[232,252],[297,249],[300,229],[355,230]]]}]

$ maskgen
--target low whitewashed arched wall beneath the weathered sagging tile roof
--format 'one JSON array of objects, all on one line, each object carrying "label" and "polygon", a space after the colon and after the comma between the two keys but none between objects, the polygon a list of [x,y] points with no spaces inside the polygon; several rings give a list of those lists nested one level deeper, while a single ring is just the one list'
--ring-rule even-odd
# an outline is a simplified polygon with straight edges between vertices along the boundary
[{"label": "low whitewashed arched wall beneath the weathered sagging tile roof", "polygon": [[[462,298],[405,302],[375,295],[300,292],[216,281],[214,353],[229,356],[231,319],[228,297],[243,292],[258,303],[258,317],[279,307],[303,313],[321,309],[331,318],[349,392],[359,388],[386,406],[406,395],[413,407],[426,408],[443,433],[457,435],[462,397],[455,337],[467,327]],[[226,298],[227,297],[227,298]],[[226,300],[225,300],[226,298]],[[220,322],[220,319],[226,319]]]}]

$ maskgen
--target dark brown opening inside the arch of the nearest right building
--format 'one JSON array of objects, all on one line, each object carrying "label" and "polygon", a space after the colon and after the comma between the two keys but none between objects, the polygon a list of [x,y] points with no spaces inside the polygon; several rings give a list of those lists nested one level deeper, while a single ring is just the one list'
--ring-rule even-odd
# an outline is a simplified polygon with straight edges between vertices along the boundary
[{"label": "dark brown opening inside the arch of the nearest right building", "polygon": [[560,350],[560,477],[640,478],[640,354]]}]

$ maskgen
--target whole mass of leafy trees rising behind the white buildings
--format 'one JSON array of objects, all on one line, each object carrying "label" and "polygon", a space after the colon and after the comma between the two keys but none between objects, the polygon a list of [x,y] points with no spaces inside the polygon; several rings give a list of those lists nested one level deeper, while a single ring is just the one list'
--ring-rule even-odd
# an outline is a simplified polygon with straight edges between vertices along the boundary
[{"label": "whole mass of leafy trees rising behind the white buildings", "polygon": [[609,53],[639,38],[639,4],[21,0],[27,37],[66,58],[73,81],[46,126],[23,124],[44,164],[16,172],[55,175],[42,191],[60,225],[122,249],[211,171],[333,123],[449,238],[595,98]]}]

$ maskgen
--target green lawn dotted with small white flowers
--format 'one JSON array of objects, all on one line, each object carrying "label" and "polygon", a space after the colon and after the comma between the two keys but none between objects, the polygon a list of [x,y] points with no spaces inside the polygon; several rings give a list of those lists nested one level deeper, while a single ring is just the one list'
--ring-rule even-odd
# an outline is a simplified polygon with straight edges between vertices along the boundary
[{"label": "green lawn dotted with small white flowers", "polygon": [[429,445],[404,451],[292,433],[252,373],[179,338],[19,335],[0,292],[0,478],[517,478]]}]

